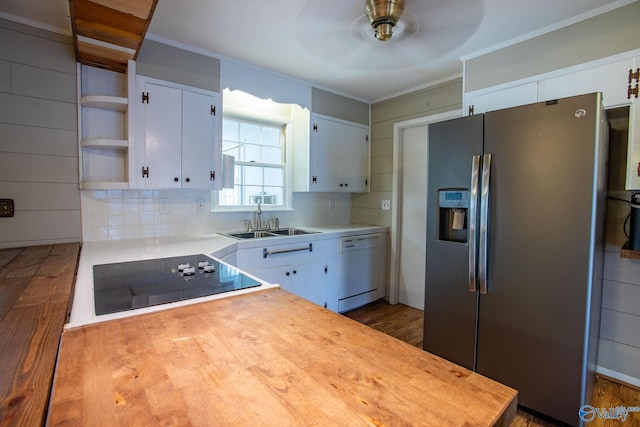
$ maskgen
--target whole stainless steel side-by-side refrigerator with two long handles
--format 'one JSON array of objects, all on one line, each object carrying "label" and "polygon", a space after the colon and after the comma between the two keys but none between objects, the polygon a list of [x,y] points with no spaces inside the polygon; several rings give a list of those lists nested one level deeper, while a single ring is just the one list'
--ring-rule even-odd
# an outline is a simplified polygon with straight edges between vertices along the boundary
[{"label": "whole stainless steel side-by-side refrigerator with two long handles", "polygon": [[597,357],[601,95],[429,126],[424,349],[578,425]]}]

